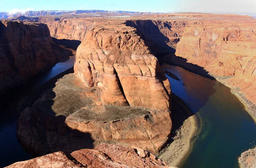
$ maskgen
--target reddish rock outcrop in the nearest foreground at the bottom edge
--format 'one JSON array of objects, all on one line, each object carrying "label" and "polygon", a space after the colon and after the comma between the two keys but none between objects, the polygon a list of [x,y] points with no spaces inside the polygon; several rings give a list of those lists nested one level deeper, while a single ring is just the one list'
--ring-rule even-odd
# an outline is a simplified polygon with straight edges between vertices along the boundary
[{"label": "reddish rock outcrop in the nearest foreground at the bottom edge", "polygon": [[6,168],[170,168],[165,162],[142,149],[100,145],[93,150],[81,149],[70,155],[55,152],[17,162]]}]

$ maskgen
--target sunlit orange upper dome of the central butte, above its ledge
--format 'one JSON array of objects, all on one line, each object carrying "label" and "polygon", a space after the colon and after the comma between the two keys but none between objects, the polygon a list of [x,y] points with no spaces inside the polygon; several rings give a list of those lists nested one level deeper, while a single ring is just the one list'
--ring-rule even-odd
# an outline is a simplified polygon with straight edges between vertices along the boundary
[{"label": "sunlit orange upper dome of the central butte, above its ledge", "polygon": [[102,89],[103,104],[168,110],[170,85],[136,29],[122,23],[87,31],[77,49],[75,75]]}]

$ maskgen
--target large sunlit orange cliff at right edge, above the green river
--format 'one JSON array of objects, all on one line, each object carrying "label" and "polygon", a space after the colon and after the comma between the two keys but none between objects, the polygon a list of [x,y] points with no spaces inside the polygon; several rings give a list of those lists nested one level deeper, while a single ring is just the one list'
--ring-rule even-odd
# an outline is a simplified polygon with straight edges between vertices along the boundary
[{"label": "large sunlit orange cliff at right edge, above the green river", "polygon": [[205,20],[201,25],[186,27],[175,54],[217,78],[230,77],[221,81],[240,88],[256,103],[252,91],[256,88],[255,31],[256,21],[250,17]]}]

